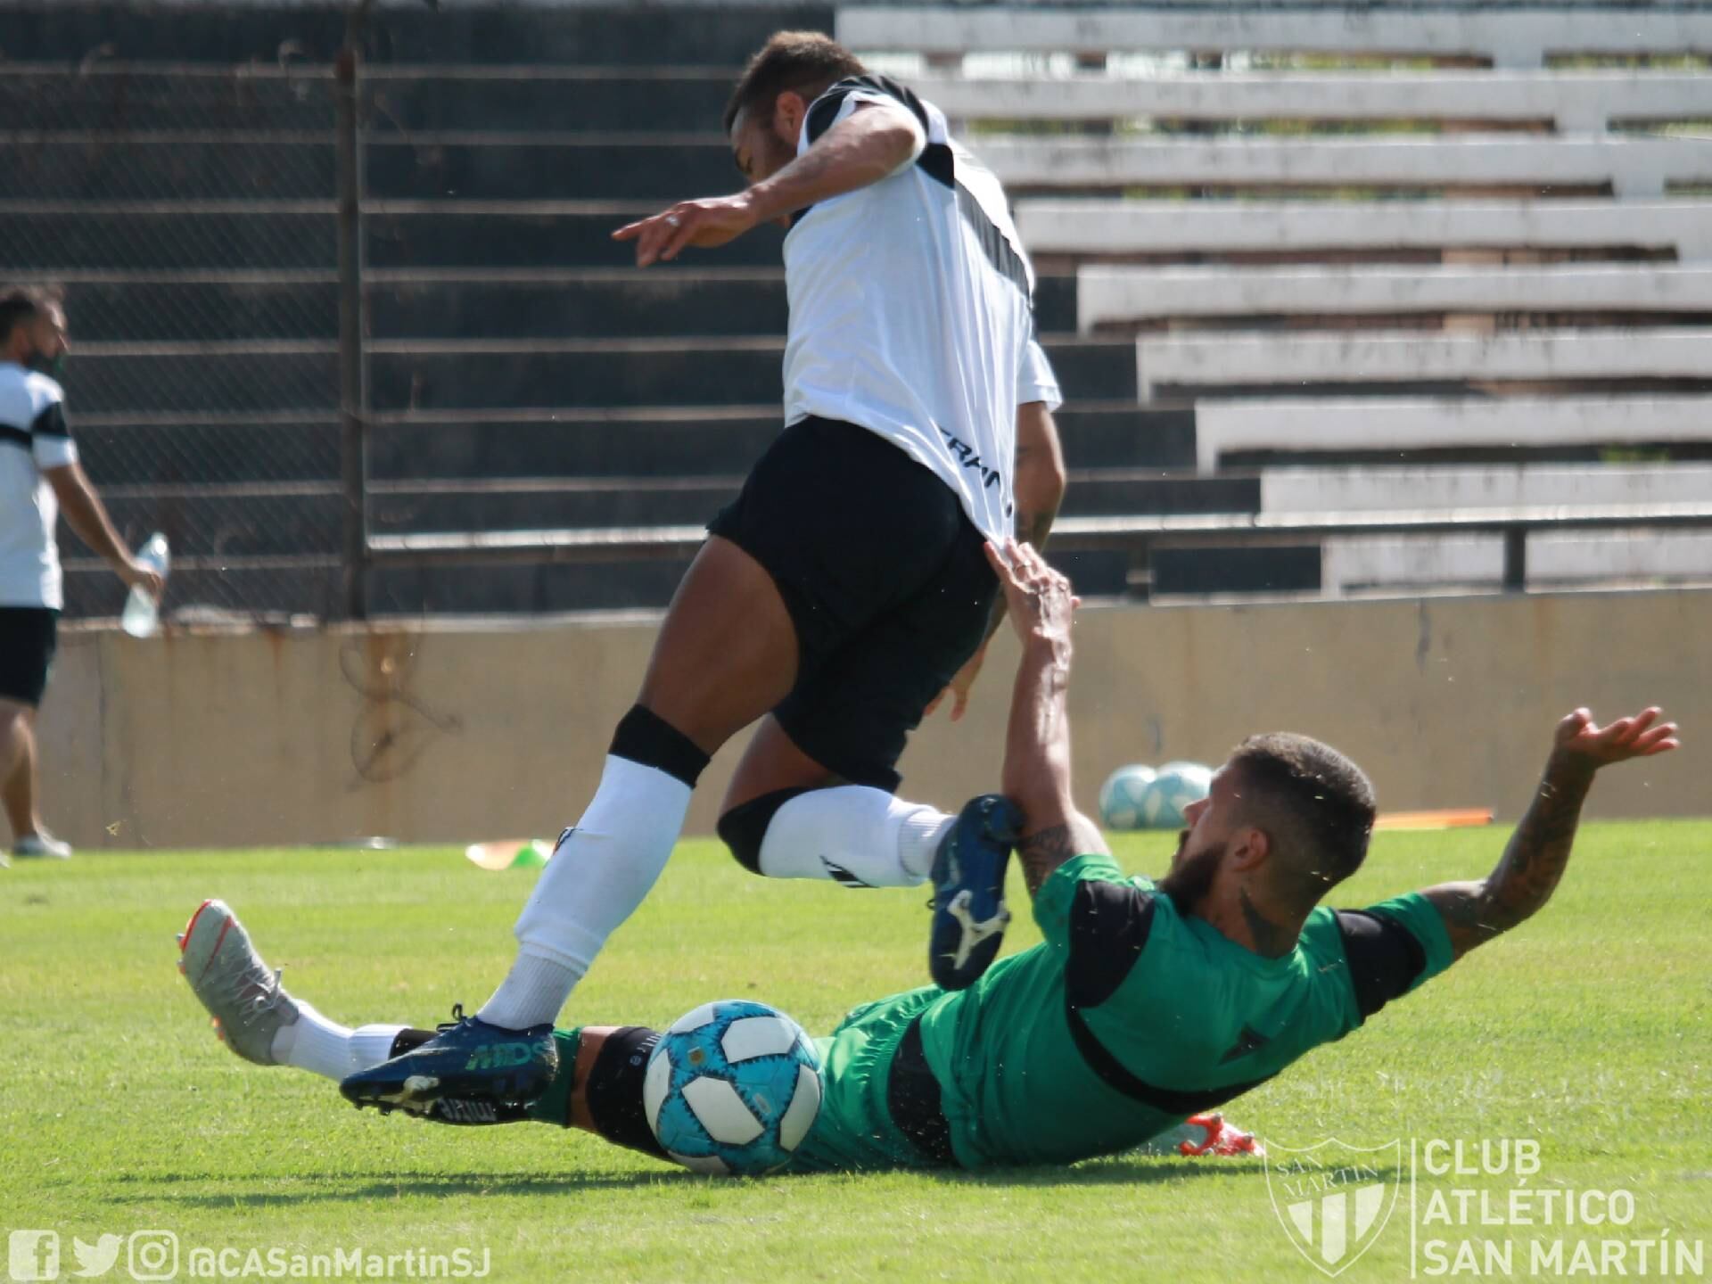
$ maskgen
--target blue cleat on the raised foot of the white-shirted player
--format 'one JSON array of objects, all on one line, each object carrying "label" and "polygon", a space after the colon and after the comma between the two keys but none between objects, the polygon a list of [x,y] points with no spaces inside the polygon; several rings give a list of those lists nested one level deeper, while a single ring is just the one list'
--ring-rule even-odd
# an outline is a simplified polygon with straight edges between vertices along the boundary
[{"label": "blue cleat on the raised foot of the white-shirted player", "polygon": [[943,990],[967,990],[1005,943],[1005,866],[1022,829],[1022,811],[1002,794],[983,794],[933,856],[933,930],[928,971]]}]

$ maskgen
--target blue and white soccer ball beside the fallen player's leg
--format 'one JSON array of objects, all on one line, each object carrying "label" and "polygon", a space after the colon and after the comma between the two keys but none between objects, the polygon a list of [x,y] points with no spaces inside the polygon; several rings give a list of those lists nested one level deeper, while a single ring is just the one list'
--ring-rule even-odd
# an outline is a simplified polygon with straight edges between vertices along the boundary
[{"label": "blue and white soccer ball beside the fallen player's leg", "polygon": [[820,1113],[820,1053],[801,1025],[765,1003],[704,1003],[654,1046],[642,1106],[654,1137],[685,1168],[772,1173]]}]

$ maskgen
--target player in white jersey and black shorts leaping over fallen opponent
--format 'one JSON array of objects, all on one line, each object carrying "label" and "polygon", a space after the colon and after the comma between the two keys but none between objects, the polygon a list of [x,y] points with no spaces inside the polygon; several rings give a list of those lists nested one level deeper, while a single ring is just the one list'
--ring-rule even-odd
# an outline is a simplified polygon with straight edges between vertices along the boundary
[{"label": "player in white jersey and black shorts leaping over fallen opponent", "polygon": [[998,952],[1015,808],[906,803],[895,765],[979,669],[1000,601],[986,543],[1039,546],[1063,495],[1032,269],[945,116],[827,36],[776,34],[724,125],[748,188],[615,236],[647,267],[789,226],[786,428],[709,524],[594,801],[517,921],[510,974],[476,1017],[354,1075],[360,1104],[539,1096],[553,1019],[664,868],[709,757],[757,721],[719,822],[746,868],[931,882],[930,971],[948,990]]}]

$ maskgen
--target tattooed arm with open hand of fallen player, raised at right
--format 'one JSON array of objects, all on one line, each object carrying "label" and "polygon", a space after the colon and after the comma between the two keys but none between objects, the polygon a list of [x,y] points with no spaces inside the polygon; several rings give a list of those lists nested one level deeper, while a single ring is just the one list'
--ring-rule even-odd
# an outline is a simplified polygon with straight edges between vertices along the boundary
[{"label": "tattooed arm with open hand of fallen player, raised at right", "polygon": [[1587,709],[1577,709],[1558,722],[1539,791],[1498,866],[1477,882],[1442,883],[1424,892],[1445,919],[1457,959],[1531,918],[1551,899],[1570,863],[1582,803],[1601,767],[1678,746],[1676,724],[1659,722],[1659,709],[1645,709],[1601,729]]}]

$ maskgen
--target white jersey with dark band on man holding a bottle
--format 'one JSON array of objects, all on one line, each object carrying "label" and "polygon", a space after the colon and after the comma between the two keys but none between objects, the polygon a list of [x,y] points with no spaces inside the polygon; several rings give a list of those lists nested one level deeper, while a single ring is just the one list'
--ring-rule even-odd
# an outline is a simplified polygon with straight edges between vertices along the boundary
[{"label": "white jersey with dark band on man holding a bottle", "polygon": [[65,606],[53,543],[60,502],[43,471],[75,462],[60,385],[0,361],[0,606]]}]

